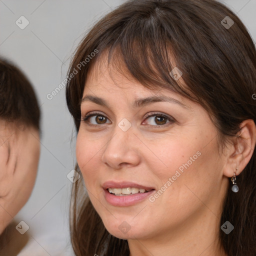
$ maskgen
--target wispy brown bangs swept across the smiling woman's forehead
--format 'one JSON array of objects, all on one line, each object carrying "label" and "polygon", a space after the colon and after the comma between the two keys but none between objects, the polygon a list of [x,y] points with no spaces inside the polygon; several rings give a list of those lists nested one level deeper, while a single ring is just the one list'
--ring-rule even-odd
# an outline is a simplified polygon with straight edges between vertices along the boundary
[{"label": "wispy brown bangs swept across the smiling woman's forehead", "polygon": [[93,62],[104,56],[108,66],[111,65],[126,78],[134,78],[148,89],[169,89],[198,102],[185,83],[186,71],[179,64],[179,57],[175,56],[170,38],[161,24],[140,19],[134,29],[134,20],[131,23],[120,27],[120,31],[113,31],[119,33],[114,41],[110,35],[99,42],[99,53]]}]

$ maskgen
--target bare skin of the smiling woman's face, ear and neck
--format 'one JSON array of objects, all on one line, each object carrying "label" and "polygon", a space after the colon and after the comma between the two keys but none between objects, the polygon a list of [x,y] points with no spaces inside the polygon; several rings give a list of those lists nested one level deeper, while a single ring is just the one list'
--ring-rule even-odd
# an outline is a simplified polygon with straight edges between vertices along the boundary
[{"label": "bare skin of the smiling woman's face, ear and neck", "polygon": [[[254,122],[245,120],[240,137],[230,138],[219,151],[218,131],[202,106],[172,91],[149,90],[113,66],[107,68],[104,57],[88,72],[83,97],[88,94],[104,98],[109,108],[81,103],[81,117],[97,111],[105,119],[91,116],[81,121],[76,157],[89,198],[106,229],[128,240],[132,256],[226,255],[218,239],[221,204],[235,167],[239,174],[252,155]],[[170,102],[132,106],[136,98],[152,95],[168,95],[186,108]],[[146,113],[154,112],[175,120],[160,120],[165,124],[157,127],[155,116],[145,119]],[[118,127],[123,118],[131,123],[127,131]],[[200,156],[153,202],[146,198],[130,206],[113,206],[105,200],[103,182],[131,181],[158,190],[197,151]],[[126,233],[118,228],[123,221],[130,227]]]}]

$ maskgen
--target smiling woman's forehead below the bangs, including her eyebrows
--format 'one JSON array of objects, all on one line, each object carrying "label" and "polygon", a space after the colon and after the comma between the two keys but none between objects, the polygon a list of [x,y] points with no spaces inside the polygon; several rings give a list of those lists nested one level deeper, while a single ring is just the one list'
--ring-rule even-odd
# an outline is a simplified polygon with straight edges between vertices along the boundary
[{"label": "smiling woman's forehead below the bangs, including her eyebrows", "polygon": [[106,57],[96,61],[88,70],[81,103],[91,101],[109,108],[107,98],[115,102],[125,98],[133,107],[168,101],[190,108],[189,102],[181,102],[187,99],[180,94],[158,86],[154,89],[147,88],[132,77],[124,65],[119,67],[116,68],[111,63],[108,65]]}]

